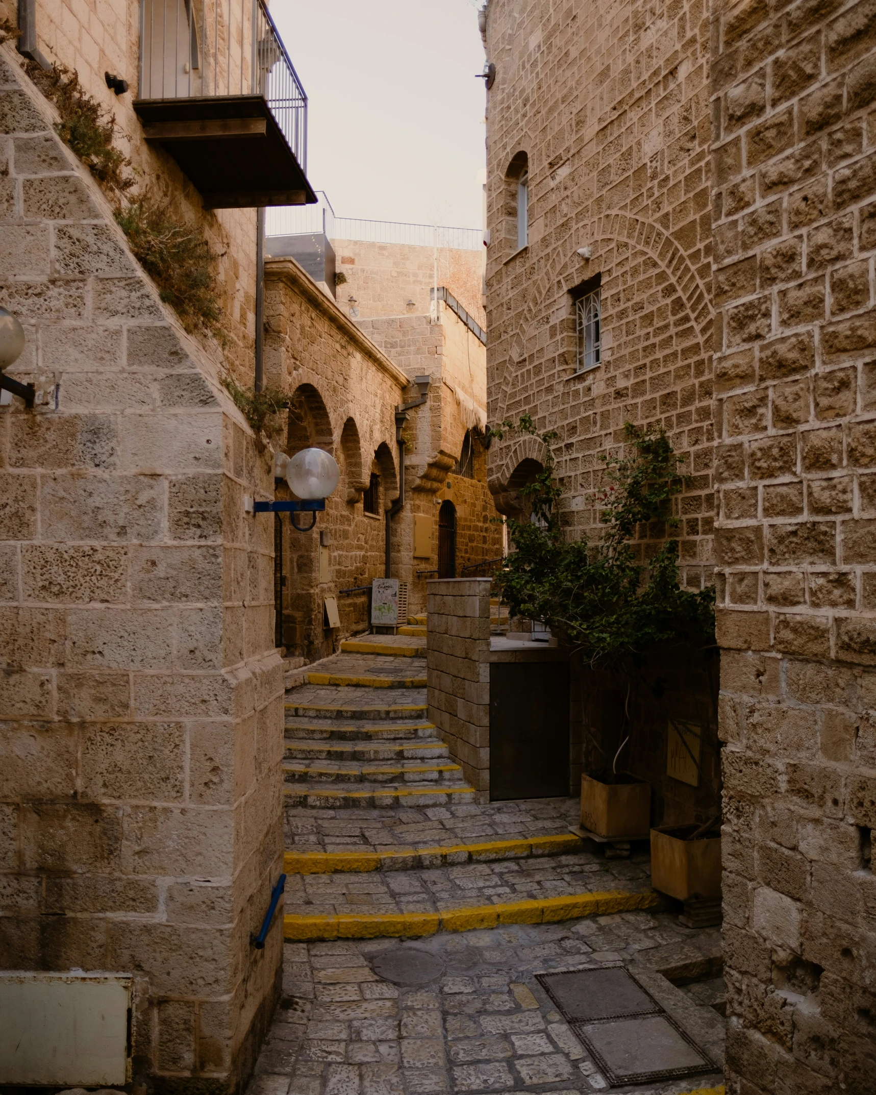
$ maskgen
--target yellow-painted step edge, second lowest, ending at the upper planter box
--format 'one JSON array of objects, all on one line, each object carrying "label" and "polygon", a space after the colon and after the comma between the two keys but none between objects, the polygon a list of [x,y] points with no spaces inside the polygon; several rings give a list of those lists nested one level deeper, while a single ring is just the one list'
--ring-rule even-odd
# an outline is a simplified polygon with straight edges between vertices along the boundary
[{"label": "yellow-painted step edge, second lowest, ending at the upper planter box", "polygon": [[[532,837],[529,840],[494,840],[480,844],[450,844],[446,848],[410,848],[395,852],[287,852],[287,875],[330,875],[336,871],[392,869],[400,860],[419,861],[430,867],[459,863],[488,863],[502,858],[574,852],[584,841],[573,833]],[[464,856],[464,857],[463,857]],[[422,857],[422,858],[420,858]]]}]

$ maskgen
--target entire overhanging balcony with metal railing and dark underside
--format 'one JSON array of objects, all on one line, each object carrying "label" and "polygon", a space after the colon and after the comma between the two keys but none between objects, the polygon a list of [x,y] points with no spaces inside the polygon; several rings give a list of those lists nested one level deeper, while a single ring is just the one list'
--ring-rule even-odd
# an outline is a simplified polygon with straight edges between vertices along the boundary
[{"label": "entire overhanging balcony with metal railing and dark underside", "polygon": [[141,0],[134,108],[206,208],[316,201],[308,99],[263,0]]}]

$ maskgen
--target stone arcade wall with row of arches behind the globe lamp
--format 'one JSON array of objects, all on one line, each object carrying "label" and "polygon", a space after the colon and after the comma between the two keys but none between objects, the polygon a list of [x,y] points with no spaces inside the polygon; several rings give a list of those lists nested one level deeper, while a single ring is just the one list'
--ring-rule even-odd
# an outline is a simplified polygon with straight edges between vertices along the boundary
[{"label": "stone arcade wall with row of arches behind the globe lamp", "polygon": [[[281,518],[284,643],[290,654],[315,659],[370,623],[367,597],[338,597],[343,626],[330,631],[323,626],[323,601],[383,576],[384,514],[399,495],[394,412],[408,382],[293,260],[265,264],[265,382],[296,395],[277,443],[289,454],[323,448],[342,472],[313,532],[297,532],[288,516]],[[381,480],[377,516],[366,514],[362,504],[372,471]],[[289,496],[286,487],[279,487],[280,496]],[[393,519],[396,561],[411,520],[410,505]],[[327,533],[327,545],[320,543],[320,532]],[[323,552],[327,574],[325,566],[320,569]]]}]

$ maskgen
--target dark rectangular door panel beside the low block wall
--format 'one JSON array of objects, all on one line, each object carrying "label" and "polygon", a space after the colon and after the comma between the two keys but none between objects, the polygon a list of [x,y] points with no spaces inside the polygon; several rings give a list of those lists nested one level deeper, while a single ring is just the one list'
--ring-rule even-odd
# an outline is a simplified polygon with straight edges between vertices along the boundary
[{"label": "dark rectangular door panel beside the low block wall", "polygon": [[568,794],[568,665],[489,667],[489,797]]}]

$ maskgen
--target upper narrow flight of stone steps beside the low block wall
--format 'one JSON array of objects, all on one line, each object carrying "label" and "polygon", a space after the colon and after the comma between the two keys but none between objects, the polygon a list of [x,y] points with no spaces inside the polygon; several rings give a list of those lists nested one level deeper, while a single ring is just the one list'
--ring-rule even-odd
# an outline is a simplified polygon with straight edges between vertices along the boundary
[{"label": "upper narrow flight of stone steps beside the low block wall", "polygon": [[[342,643],[286,703],[287,806],[362,808],[474,802],[426,717],[425,616],[400,635]],[[413,634],[407,634],[413,633]]]}]

